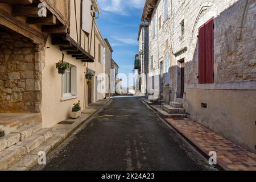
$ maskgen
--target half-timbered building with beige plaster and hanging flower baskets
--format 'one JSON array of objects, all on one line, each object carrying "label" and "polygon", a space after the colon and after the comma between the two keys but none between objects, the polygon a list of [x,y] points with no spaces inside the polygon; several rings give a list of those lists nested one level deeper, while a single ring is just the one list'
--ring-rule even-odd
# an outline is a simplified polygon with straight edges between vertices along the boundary
[{"label": "half-timbered building with beige plaster and hanging flower baskets", "polygon": [[[106,46],[96,0],[1,2],[0,130],[51,127],[69,117],[74,102],[84,109],[104,98],[97,93]],[[59,75],[55,63],[62,59],[69,68]]]}]

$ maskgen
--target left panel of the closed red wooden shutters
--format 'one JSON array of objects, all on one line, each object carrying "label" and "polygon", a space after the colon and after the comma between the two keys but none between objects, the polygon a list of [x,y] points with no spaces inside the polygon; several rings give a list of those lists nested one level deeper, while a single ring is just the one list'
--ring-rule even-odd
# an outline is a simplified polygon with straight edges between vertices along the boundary
[{"label": "left panel of the closed red wooden shutters", "polygon": [[205,26],[199,28],[199,84],[205,84]]}]

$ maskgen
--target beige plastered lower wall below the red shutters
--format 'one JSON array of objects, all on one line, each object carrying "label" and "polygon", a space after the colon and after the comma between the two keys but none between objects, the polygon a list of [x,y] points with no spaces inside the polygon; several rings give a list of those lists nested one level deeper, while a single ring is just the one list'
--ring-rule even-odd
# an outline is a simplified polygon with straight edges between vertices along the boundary
[{"label": "beige plastered lower wall below the red shutters", "polygon": [[[191,118],[255,151],[255,90],[186,89],[184,107]],[[201,108],[207,104],[207,109]]]}]

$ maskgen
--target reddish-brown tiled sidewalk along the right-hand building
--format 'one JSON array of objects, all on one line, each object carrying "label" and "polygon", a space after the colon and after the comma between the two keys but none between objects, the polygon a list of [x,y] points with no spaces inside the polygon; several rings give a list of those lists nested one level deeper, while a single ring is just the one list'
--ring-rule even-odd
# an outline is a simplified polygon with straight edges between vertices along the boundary
[{"label": "reddish-brown tiled sidewalk along the right-hand building", "polygon": [[166,119],[185,138],[190,140],[206,155],[217,152],[217,163],[228,171],[256,171],[256,154],[249,152],[230,140],[190,119]]}]

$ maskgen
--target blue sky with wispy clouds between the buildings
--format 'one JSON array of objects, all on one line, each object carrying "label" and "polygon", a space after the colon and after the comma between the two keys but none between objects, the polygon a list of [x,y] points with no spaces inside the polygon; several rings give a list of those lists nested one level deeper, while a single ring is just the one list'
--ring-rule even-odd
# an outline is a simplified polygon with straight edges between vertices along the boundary
[{"label": "blue sky with wispy clouds between the buildings", "polygon": [[[113,59],[119,65],[119,73],[128,77],[134,69],[134,56],[138,52],[138,28],[144,0],[98,0],[101,16],[97,19],[104,38],[113,48]],[[129,82],[129,85],[133,85]],[[126,86],[123,81],[123,86]]]}]

